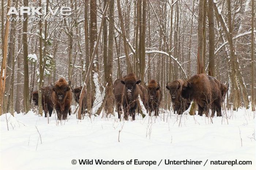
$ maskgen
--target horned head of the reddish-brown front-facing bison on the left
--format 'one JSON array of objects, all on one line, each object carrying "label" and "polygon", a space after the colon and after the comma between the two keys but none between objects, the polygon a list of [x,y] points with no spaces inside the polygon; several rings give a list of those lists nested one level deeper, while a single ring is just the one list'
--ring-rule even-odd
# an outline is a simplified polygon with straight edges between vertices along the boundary
[{"label": "horned head of the reddish-brown front-facing bison on the left", "polygon": [[67,92],[70,90],[71,81],[68,82],[68,84],[63,83],[56,83],[54,86],[52,86],[52,90],[55,92],[57,100],[62,103],[64,101],[65,96],[67,95]]}]

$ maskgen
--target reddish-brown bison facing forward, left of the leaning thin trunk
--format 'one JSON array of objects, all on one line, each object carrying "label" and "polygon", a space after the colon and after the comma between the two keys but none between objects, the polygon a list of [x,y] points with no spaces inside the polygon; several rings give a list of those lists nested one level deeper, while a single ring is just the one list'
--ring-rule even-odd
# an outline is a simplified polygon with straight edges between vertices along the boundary
[{"label": "reddish-brown bison facing forward, left of the leaning thin trunk", "polygon": [[72,102],[71,82],[67,83],[64,78],[60,78],[55,85],[52,85],[52,103],[57,112],[58,120],[67,119]]}]

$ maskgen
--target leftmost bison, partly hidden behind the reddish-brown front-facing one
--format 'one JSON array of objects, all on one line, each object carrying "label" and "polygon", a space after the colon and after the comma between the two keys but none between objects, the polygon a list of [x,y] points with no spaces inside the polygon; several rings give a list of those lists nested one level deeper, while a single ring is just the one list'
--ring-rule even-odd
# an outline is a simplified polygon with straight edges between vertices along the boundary
[{"label": "leftmost bison, partly hidden behind the reddish-brown front-facing one", "polygon": [[[47,113],[49,116],[52,116],[53,111],[53,103],[52,103],[52,88],[50,86],[45,86],[41,88],[42,93],[42,108],[45,112],[45,117],[47,117]],[[33,95],[33,103],[38,106],[38,91],[34,91]]]}]

